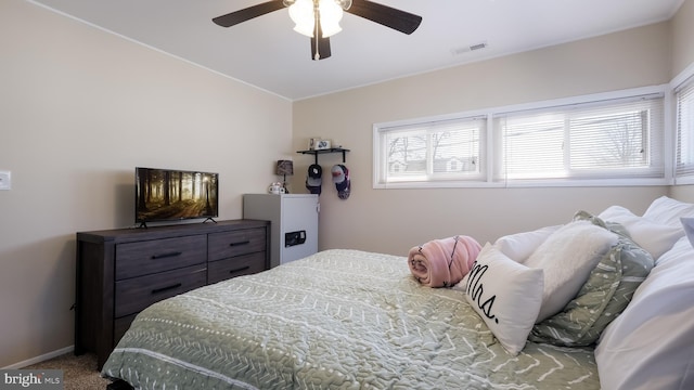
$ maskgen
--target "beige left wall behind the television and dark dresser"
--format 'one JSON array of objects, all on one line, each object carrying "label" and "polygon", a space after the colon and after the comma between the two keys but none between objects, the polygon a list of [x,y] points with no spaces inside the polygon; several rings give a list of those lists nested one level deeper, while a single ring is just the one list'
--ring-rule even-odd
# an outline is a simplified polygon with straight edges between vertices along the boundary
[{"label": "beige left wall behind the television and dark dresser", "polygon": [[235,219],[295,153],[292,102],[26,1],[0,1],[0,53],[4,367],[73,344],[75,232],[133,224],[136,166],[219,172]]}]

